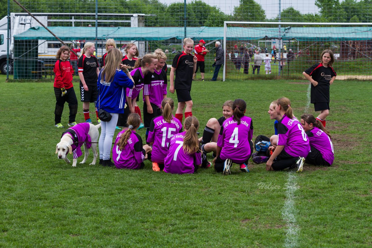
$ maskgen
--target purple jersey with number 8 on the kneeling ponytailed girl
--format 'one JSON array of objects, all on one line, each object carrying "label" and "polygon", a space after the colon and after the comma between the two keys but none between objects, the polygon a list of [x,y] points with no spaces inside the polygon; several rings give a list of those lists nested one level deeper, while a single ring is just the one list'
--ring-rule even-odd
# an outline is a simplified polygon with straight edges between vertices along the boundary
[{"label": "purple jersey with number 8 on the kneeling ponytailed girl", "polygon": [[301,123],[293,117],[283,115],[278,122],[278,145],[285,145],[284,151],[293,157],[307,157],[310,151],[309,139]]}]

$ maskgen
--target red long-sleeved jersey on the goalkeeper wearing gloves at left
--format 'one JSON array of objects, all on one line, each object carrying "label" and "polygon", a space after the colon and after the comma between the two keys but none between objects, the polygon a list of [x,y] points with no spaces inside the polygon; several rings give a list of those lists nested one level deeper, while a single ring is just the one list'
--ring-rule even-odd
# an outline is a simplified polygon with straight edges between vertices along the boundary
[{"label": "red long-sleeved jersey on the goalkeeper wearing gloves at left", "polygon": [[56,88],[66,88],[69,89],[73,87],[72,75],[74,74],[74,69],[72,68],[70,61],[62,61],[58,59],[54,64],[54,87]]}]

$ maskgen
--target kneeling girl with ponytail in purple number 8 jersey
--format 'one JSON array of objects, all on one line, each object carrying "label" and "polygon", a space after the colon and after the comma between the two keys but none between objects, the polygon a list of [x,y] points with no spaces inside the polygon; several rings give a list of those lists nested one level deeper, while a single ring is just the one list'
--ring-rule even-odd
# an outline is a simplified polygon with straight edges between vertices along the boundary
[{"label": "kneeling girl with ponytail in purple number 8 jersey", "polygon": [[310,151],[309,139],[301,123],[294,117],[288,98],[279,98],[275,110],[281,118],[278,122],[278,135],[270,138],[273,154],[266,162],[266,170],[297,168],[298,172],[302,171],[305,157]]}]

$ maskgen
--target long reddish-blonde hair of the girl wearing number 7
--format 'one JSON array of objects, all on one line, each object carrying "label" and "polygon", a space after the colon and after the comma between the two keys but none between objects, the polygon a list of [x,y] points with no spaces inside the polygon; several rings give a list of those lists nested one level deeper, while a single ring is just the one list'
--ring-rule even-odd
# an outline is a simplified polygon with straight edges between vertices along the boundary
[{"label": "long reddish-blonde hair of the girl wearing number 7", "polygon": [[193,154],[200,151],[199,140],[196,131],[199,129],[199,120],[195,116],[189,116],[183,122],[183,126],[187,132],[183,137],[183,151],[186,154]]}]

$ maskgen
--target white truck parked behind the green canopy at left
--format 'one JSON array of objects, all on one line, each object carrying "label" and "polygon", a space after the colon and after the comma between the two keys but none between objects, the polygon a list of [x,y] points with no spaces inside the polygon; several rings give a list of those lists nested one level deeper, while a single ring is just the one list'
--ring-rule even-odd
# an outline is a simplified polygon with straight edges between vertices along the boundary
[{"label": "white truck parked behind the green canopy at left", "polygon": [[[94,20],[90,19],[74,19],[74,16],[94,16],[94,13],[32,13],[41,23],[45,26],[48,26],[51,22],[63,21],[70,22],[71,26],[74,26],[74,22],[83,22],[83,23],[93,23]],[[107,20],[102,20],[102,17],[109,17],[114,14],[98,14],[101,20],[98,22],[107,22]],[[51,19],[50,17],[63,17],[68,19]],[[144,26],[144,17],[153,16],[153,15],[144,15],[144,14],[115,14],[115,16],[123,17],[121,20],[110,20],[110,22],[115,23],[116,25],[121,25],[121,23],[130,23],[131,27],[143,27]],[[130,19],[129,19],[130,17]],[[126,18],[126,20],[125,20]],[[108,19],[108,18],[106,18]],[[100,25],[100,24],[99,24]],[[13,36],[19,33],[25,32],[29,28],[35,26],[41,26],[35,19],[29,16],[27,13],[10,13],[10,48],[9,48],[9,65],[7,67],[7,26],[8,20],[7,16],[3,17],[0,20],[0,72],[6,74],[9,71],[9,74],[13,74],[13,61],[14,61],[14,39]],[[58,36],[58,34],[56,34]],[[77,41],[64,41],[66,44],[76,44]],[[94,42],[94,41],[91,41]],[[118,46],[128,44],[135,41],[116,41]],[[140,51],[140,56],[143,56],[145,50],[145,42],[136,41],[137,47]],[[82,45],[82,44],[81,44]],[[44,61],[47,64],[54,64],[55,55],[57,54],[58,49],[60,48],[61,43],[59,41],[45,41],[38,40],[38,60]],[[75,45],[76,47],[76,45]],[[105,54],[105,41],[98,41],[96,47],[96,56],[101,58]],[[80,55],[80,53],[78,53]]]}]

